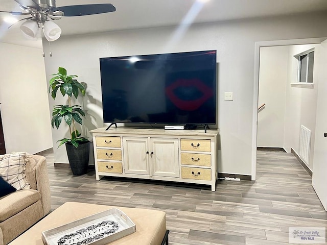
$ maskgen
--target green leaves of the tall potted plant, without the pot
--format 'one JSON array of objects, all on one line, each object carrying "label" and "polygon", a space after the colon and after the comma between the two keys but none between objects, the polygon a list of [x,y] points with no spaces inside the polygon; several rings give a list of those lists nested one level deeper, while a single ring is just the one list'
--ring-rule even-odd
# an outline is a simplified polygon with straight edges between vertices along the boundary
[{"label": "green leaves of the tall potted plant, without the pot", "polygon": [[[56,100],[58,90],[61,92],[62,96],[67,94],[68,96],[68,105],[56,105],[52,110],[52,128],[59,128],[62,121],[65,121],[69,126],[69,133],[71,138],[59,139],[57,142],[59,146],[64,143],[71,143],[76,148],[82,142],[88,142],[86,137],[81,137],[81,134],[76,129],[75,123],[82,125],[82,117],[85,116],[85,112],[82,110],[82,107],[79,105],[72,104],[72,96],[74,95],[77,99],[79,93],[84,96],[85,88],[84,86],[77,81],[76,75],[67,76],[67,70],[63,67],[58,68],[57,74],[52,74],[54,76],[50,79],[49,93],[54,100]],[[63,120],[62,120],[63,119]],[[58,147],[59,147],[58,146]]]}]

